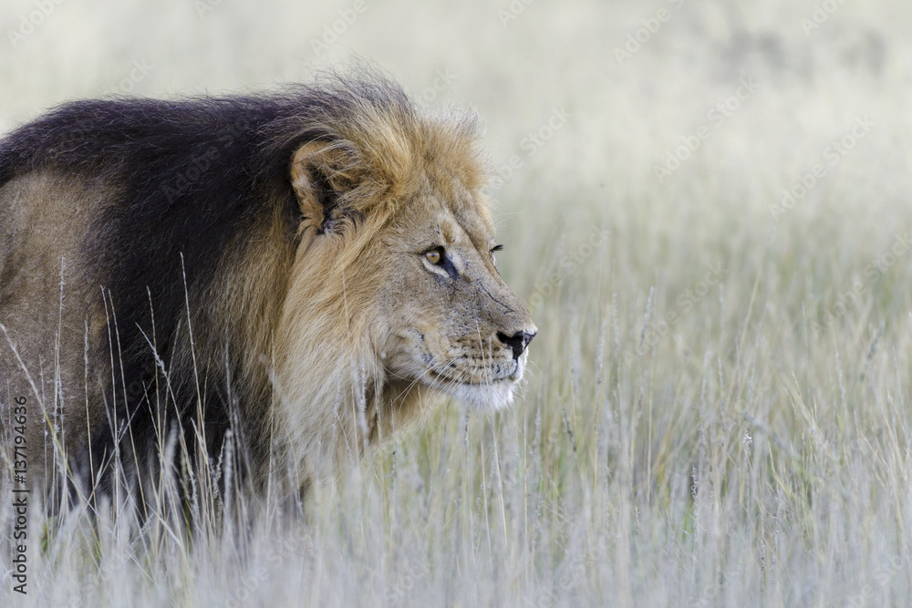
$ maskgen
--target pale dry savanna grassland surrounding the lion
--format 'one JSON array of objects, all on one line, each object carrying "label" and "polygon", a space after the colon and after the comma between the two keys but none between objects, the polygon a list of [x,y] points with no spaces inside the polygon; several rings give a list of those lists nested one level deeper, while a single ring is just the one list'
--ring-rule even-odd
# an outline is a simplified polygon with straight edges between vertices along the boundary
[{"label": "pale dry savanna grassland surrounding the lion", "polygon": [[351,56],[472,105],[540,330],[521,395],[446,404],[299,517],[222,518],[202,479],[192,533],[30,510],[26,596],[5,479],[0,604],[912,604],[907,3],[357,4],[46,2],[26,35],[42,3],[5,2],[0,130]]}]

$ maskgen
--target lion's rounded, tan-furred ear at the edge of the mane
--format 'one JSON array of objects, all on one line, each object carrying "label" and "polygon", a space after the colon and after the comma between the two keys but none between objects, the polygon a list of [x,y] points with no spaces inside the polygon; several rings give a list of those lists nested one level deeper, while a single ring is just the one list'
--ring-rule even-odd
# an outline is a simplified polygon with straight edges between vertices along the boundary
[{"label": "lion's rounded, tan-furred ear at the edge of the mane", "polygon": [[295,151],[291,184],[305,221],[331,232],[350,215],[346,193],[358,180],[356,151],[338,141],[311,141]]}]

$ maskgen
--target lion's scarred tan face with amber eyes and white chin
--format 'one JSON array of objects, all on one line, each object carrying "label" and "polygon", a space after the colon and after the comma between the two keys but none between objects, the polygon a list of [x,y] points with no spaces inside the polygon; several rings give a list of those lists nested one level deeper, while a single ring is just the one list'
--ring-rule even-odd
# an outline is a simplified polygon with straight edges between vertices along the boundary
[{"label": "lion's scarred tan face with amber eyes and white chin", "polygon": [[451,186],[420,195],[385,231],[381,358],[394,376],[495,409],[512,401],[537,329],[497,270],[487,211]]}]

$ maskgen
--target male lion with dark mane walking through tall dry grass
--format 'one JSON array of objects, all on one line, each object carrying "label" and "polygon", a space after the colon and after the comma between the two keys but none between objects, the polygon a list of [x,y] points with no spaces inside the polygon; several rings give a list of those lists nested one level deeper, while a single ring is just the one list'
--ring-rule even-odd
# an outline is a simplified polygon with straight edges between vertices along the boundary
[{"label": "male lion with dark mane walking through tall dry grass", "polygon": [[298,485],[432,397],[510,403],[536,329],[497,271],[478,131],[368,75],[77,101],[0,140],[7,466],[22,403],[36,479],[231,443],[248,479],[284,462]]}]

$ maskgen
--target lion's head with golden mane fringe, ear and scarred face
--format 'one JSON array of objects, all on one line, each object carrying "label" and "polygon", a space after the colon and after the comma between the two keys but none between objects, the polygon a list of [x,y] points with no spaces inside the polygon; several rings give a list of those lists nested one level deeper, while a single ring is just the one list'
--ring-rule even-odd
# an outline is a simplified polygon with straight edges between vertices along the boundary
[{"label": "lion's head with golden mane fringe, ear and scarred face", "polygon": [[370,93],[295,134],[300,244],[279,369],[290,427],[320,427],[304,404],[347,417],[353,397],[351,422],[373,439],[376,418],[405,420],[430,393],[510,403],[537,330],[497,270],[477,119]]}]

